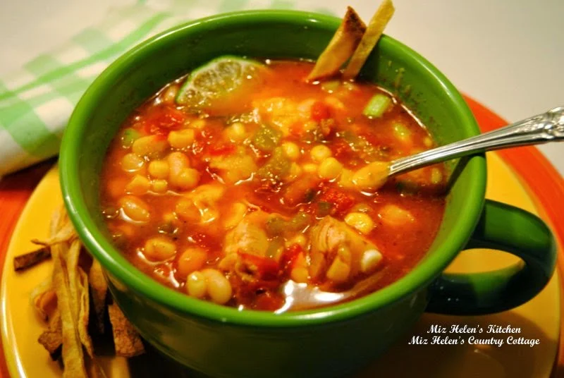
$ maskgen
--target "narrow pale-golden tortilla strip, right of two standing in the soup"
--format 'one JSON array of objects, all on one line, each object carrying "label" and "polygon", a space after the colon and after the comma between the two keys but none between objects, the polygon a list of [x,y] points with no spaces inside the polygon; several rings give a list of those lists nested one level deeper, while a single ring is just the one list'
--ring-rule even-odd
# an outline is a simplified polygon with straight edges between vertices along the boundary
[{"label": "narrow pale-golden tortilla strip, right of two standing in the soup", "polygon": [[370,51],[376,46],[376,42],[380,39],[384,28],[388,25],[395,10],[391,0],[382,1],[378,10],[374,13],[374,16],[372,16],[372,20],[370,20],[368,28],[366,32],[364,32],[360,44],[358,44],[355,50],[355,54],[350,58],[343,72],[343,78],[345,80],[356,78],[360,72],[360,68],[364,66],[364,62],[368,59]]}]

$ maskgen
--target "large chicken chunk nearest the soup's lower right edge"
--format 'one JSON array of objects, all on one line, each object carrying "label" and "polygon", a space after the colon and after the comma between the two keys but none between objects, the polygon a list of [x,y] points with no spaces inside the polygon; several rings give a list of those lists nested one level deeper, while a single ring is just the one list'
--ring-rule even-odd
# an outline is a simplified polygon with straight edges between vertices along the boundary
[{"label": "large chicken chunk nearest the soup's lower right edge", "polygon": [[330,279],[340,284],[358,272],[369,273],[376,266],[368,266],[363,262],[363,256],[367,253],[379,254],[376,245],[343,221],[330,216],[324,217],[311,228],[309,238],[309,274],[312,279]]}]

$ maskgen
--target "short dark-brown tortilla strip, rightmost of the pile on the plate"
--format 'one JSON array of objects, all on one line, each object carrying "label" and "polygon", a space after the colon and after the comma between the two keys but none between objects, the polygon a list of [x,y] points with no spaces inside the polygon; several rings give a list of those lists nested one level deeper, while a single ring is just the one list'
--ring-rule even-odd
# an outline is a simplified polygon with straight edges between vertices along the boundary
[{"label": "short dark-brown tortilla strip, rightmost of the pile on the plate", "polygon": [[123,315],[116,303],[108,306],[111,328],[114,333],[114,344],[116,355],[125,358],[132,358],[136,355],[145,353],[145,347],[139,334],[131,325],[129,320]]}]

